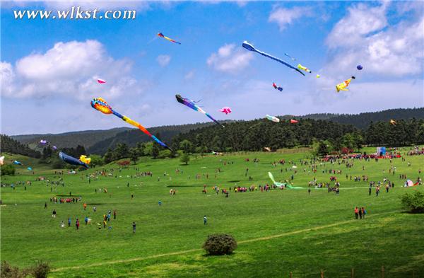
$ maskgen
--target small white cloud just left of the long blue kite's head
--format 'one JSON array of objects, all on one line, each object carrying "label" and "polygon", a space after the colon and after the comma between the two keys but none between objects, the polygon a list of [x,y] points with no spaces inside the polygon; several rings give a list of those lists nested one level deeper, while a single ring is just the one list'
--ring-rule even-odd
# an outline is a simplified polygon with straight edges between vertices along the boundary
[{"label": "small white cloud just left of the long blue kite's head", "polygon": [[252,58],[251,52],[243,50],[242,47],[235,49],[235,45],[231,44],[220,47],[218,53],[212,53],[206,62],[217,71],[234,74],[245,69]]}]

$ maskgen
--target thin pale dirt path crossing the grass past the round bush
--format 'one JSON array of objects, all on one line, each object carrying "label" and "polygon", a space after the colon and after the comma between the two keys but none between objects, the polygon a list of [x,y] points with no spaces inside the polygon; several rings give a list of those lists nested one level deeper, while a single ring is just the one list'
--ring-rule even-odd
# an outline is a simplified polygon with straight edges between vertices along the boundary
[{"label": "thin pale dirt path crossing the grass past the round bush", "polygon": [[[397,211],[394,211],[397,212]],[[370,216],[367,216],[368,218],[372,218],[375,216],[381,216],[384,214],[392,214],[394,212],[383,212],[381,214],[372,214]],[[262,238],[252,238],[252,239],[247,239],[245,241],[238,241],[237,244],[244,244],[244,243],[252,243],[252,242],[256,242],[256,241],[268,241],[270,239],[273,238],[281,238],[283,236],[292,236],[298,233],[305,233],[307,231],[316,231],[316,230],[322,230],[324,228],[331,228],[331,227],[335,227],[335,226],[342,226],[344,224],[349,224],[356,221],[355,219],[351,219],[351,220],[346,220],[346,221],[342,221],[342,222],[337,222],[334,224],[328,224],[328,225],[324,225],[324,226],[317,226],[317,227],[313,227],[313,228],[303,228],[301,230],[297,230],[297,231],[288,231],[287,233],[280,233],[278,235],[273,235],[273,236],[265,236]],[[55,268],[54,270],[52,270],[52,272],[60,272],[62,270],[77,270],[80,268],[86,268],[86,267],[100,267],[102,265],[114,265],[117,263],[123,263],[123,262],[134,262],[134,261],[140,261],[140,260],[150,260],[150,259],[155,259],[157,257],[167,257],[167,256],[173,256],[173,255],[182,255],[182,254],[187,254],[187,253],[192,253],[192,252],[199,252],[203,249],[198,248],[198,249],[190,249],[190,250],[182,250],[182,251],[177,251],[177,252],[171,252],[171,253],[163,253],[163,254],[157,254],[157,255],[151,255],[148,257],[134,257],[132,259],[124,259],[124,260],[111,260],[111,261],[107,261],[107,262],[96,262],[90,265],[80,265],[80,266],[74,266],[74,267],[59,267],[59,268]]]}]

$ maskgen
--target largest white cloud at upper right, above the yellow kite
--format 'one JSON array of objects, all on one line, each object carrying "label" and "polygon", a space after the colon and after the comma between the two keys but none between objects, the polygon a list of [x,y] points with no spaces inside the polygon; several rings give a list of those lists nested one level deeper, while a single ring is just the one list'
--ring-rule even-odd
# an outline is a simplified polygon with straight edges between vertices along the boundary
[{"label": "largest white cloud at upper right, above the yellow kite", "polygon": [[423,13],[418,20],[408,17],[396,25],[388,25],[387,5],[358,4],[348,9],[348,15],[336,23],[326,38],[331,59],[323,72],[348,77],[357,64],[362,64],[367,74],[396,77],[422,74]]}]

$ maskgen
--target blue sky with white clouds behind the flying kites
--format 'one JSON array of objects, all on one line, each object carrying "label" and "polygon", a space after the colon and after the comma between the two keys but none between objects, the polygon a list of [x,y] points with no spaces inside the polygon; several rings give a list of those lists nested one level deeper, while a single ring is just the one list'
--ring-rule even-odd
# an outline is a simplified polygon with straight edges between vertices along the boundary
[{"label": "blue sky with white clouds behind the flying kites", "polygon": [[[101,96],[146,127],[424,105],[423,2],[2,2],[1,133],[125,124],[90,107]],[[136,9],[135,20],[15,20],[16,9]],[[162,32],[182,42],[156,36]],[[301,76],[259,50],[303,64]],[[291,62],[284,53],[296,57]],[[356,69],[362,64],[363,71]],[[321,74],[320,79],[314,76]],[[348,92],[335,85],[355,75]],[[107,80],[98,84],[96,78]],[[283,92],[273,89],[276,82]],[[218,112],[229,106],[230,115]]]}]

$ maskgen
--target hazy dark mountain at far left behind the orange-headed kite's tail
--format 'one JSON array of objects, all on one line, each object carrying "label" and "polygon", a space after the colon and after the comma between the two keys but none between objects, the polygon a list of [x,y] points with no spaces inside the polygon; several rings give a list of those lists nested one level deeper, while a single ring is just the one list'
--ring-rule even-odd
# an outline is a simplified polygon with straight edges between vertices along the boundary
[{"label": "hazy dark mountain at far left behind the orange-headed kite's tail", "polygon": [[58,148],[75,148],[78,145],[88,149],[98,141],[114,137],[120,132],[131,130],[128,127],[117,127],[107,130],[84,130],[82,132],[66,132],[60,134],[28,134],[13,135],[11,138],[20,141],[22,144],[28,144],[30,148],[35,148],[41,139],[45,139]]}]

